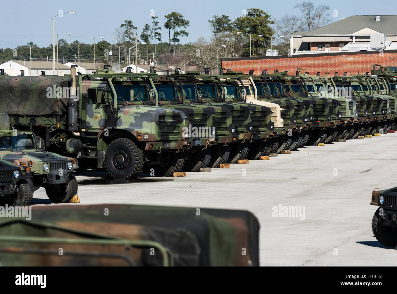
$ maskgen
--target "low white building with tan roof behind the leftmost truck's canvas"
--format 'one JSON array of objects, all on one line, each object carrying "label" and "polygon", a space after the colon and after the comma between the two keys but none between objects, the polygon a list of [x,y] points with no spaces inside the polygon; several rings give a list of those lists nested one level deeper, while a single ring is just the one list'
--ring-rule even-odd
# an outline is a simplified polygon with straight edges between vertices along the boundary
[{"label": "low white building with tan roof behind the leftmost truck's canvas", "polygon": [[42,71],[45,75],[70,74],[70,67],[59,62],[55,62],[55,71],[52,72],[52,61],[10,60],[0,64],[0,69],[8,75],[21,75],[21,70],[31,76],[41,75]]}]

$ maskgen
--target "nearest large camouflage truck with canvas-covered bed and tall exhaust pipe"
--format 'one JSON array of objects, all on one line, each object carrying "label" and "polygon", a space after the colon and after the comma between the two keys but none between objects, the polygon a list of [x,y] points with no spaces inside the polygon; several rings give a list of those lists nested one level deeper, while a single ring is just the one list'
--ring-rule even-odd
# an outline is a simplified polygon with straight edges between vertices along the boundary
[{"label": "nearest large camouflage truck with canvas-covered bed and tall exhaust pipe", "polygon": [[129,178],[145,162],[159,162],[162,153],[171,159],[162,175],[181,167],[173,164],[187,144],[184,114],[157,107],[157,101],[125,106],[107,79],[76,78],[74,66],[69,78],[0,76],[0,95],[0,112],[10,114],[11,128],[33,130],[46,150],[77,157],[81,170],[106,167],[114,178]]}]

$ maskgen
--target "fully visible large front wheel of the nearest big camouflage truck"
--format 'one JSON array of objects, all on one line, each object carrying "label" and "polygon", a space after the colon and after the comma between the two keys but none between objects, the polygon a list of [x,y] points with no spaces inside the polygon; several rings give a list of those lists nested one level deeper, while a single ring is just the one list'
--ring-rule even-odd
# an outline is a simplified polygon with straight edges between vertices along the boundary
[{"label": "fully visible large front wheel of the nearest big camouflage truck", "polygon": [[126,179],[141,172],[143,152],[130,139],[120,138],[109,144],[105,155],[106,170],[116,179]]}]

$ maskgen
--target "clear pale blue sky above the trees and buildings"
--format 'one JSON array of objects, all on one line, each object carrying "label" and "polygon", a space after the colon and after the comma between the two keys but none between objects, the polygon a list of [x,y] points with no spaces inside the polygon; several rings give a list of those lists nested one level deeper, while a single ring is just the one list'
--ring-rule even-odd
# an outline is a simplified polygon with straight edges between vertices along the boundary
[{"label": "clear pale blue sky above the trees and buildings", "polygon": [[[114,33],[125,19],[131,19],[138,27],[139,35],[145,23],[150,23],[150,10],[158,16],[161,27],[164,27],[164,15],[177,11],[190,21],[187,28],[189,37],[181,38],[181,43],[194,42],[198,37],[210,37],[211,31],[208,20],[213,15],[229,15],[230,19],[240,16],[242,10],[260,8],[271,15],[272,19],[280,18],[285,13],[298,14],[294,5],[298,0],[283,1],[104,1],[104,0],[69,0],[69,1],[3,1],[2,2],[2,30],[0,31],[0,48],[15,48],[33,41],[38,46],[52,44],[52,16],[59,10],[67,12],[73,10],[76,14],[66,14],[55,18],[55,33],[71,43],[76,39],[84,43],[93,43],[94,37],[105,37],[109,43],[115,41]],[[396,14],[397,1],[369,1],[369,0],[333,0],[312,1],[314,4],[330,6],[332,21],[351,15],[385,15]],[[251,4],[254,3],[254,4]],[[249,4],[249,5],[247,5]],[[337,10],[337,17],[333,11]],[[71,33],[67,35],[66,33]],[[162,41],[168,41],[168,31],[162,30]]]}]

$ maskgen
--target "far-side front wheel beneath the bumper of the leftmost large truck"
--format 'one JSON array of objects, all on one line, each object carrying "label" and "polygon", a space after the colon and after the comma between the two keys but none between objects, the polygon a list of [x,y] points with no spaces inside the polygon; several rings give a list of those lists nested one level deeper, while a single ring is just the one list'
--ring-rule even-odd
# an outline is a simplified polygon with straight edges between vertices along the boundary
[{"label": "far-side front wheel beneath the bumper of the leftmost large truck", "polygon": [[172,176],[174,172],[179,172],[185,164],[185,152],[178,153],[164,152],[160,153],[160,164],[150,166],[154,168],[156,176]]}]

